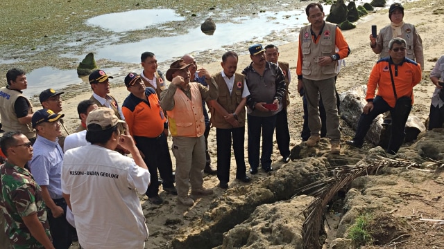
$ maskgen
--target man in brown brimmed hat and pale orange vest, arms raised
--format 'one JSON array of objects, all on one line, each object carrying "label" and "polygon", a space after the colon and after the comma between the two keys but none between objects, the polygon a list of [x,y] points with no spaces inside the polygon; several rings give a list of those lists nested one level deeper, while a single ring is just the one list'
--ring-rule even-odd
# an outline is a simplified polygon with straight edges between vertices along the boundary
[{"label": "man in brown brimmed hat and pale orange vest, arms raised", "polygon": [[194,201],[188,195],[189,183],[193,196],[213,194],[213,190],[203,187],[202,171],[206,159],[202,102],[216,100],[218,88],[207,71],[204,75],[208,88],[197,82],[190,82],[189,66],[191,64],[186,64],[183,59],[171,64],[165,75],[171,84],[160,94],[160,105],[167,111],[173,137],[178,202],[192,206]]}]

